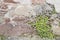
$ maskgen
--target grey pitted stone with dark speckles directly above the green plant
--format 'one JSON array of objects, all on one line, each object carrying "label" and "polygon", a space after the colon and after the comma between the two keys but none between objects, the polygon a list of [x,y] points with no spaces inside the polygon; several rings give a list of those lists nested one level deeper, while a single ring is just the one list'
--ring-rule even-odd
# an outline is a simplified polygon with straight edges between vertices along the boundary
[{"label": "grey pitted stone with dark speckles directly above the green plant", "polygon": [[44,5],[35,5],[33,7],[36,15],[51,16],[52,11],[54,10],[54,6],[49,3],[45,3]]}]

